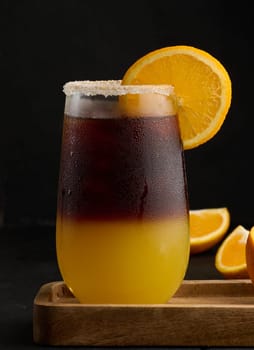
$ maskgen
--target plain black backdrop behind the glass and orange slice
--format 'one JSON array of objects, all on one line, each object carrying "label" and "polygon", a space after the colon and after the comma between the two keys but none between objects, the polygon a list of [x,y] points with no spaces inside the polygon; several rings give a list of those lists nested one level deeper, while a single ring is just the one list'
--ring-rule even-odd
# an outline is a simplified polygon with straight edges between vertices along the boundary
[{"label": "plain black backdrop behind the glass and orange slice", "polygon": [[208,51],[227,68],[228,116],[185,152],[190,207],[253,217],[253,54],[250,1],[1,1],[0,181],[6,225],[54,225],[69,80],[121,79],[144,54],[171,45]]}]

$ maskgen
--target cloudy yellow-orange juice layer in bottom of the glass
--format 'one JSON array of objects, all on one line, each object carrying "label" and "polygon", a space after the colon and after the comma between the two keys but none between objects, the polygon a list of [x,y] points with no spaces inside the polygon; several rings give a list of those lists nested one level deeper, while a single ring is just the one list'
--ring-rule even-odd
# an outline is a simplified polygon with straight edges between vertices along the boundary
[{"label": "cloudy yellow-orange juice layer in bottom of the glass", "polygon": [[82,303],[165,303],[189,259],[188,221],[57,219],[58,264]]}]

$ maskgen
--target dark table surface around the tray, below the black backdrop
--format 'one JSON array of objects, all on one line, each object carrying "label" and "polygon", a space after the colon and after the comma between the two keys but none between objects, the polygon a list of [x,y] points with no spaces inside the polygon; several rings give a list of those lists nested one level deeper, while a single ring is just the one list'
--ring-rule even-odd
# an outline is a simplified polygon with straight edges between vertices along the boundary
[{"label": "dark table surface around the tray, below the black backdrop", "polygon": [[[41,285],[61,280],[55,227],[6,227],[0,233],[0,349],[56,349],[34,344],[32,315]],[[191,256],[185,279],[221,279],[214,267],[216,248]]]}]

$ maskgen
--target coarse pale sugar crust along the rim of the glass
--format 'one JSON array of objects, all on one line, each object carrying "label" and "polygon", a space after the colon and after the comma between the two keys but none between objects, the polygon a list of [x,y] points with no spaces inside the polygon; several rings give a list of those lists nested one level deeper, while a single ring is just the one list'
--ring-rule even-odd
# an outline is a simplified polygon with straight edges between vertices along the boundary
[{"label": "coarse pale sugar crust along the rim of the glass", "polygon": [[126,94],[155,93],[170,96],[174,93],[172,85],[121,85],[121,80],[80,80],[70,81],[63,86],[66,96],[82,94],[86,96],[120,96]]}]

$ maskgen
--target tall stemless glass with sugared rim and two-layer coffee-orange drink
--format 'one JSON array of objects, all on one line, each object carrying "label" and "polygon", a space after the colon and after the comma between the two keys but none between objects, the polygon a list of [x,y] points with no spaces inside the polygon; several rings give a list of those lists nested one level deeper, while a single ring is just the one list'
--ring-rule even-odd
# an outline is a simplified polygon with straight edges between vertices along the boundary
[{"label": "tall stemless glass with sugared rim and two-layer coffee-orange drink", "polygon": [[184,156],[172,87],[69,82],[56,247],[81,303],[165,303],[189,260]]}]

